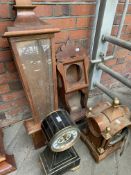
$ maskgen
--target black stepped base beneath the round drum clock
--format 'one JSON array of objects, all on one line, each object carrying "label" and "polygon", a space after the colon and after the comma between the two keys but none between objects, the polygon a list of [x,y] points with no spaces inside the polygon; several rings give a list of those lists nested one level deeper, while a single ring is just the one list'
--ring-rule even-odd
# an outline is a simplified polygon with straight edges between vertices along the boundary
[{"label": "black stepped base beneath the round drum clock", "polygon": [[47,146],[41,153],[40,159],[46,175],[61,175],[80,165],[80,157],[73,147],[55,153]]}]

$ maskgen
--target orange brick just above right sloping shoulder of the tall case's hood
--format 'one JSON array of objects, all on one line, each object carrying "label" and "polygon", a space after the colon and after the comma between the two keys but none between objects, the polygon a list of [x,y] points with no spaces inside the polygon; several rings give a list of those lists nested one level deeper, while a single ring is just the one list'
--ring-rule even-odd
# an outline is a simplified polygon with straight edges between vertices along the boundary
[{"label": "orange brick just above right sloping shoulder of the tall case's hood", "polygon": [[54,27],[58,27],[60,29],[69,29],[75,28],[76,19],[75,18],[64,18],[64,19],[48,19],[44,20],[49,24],[52,24]]}]

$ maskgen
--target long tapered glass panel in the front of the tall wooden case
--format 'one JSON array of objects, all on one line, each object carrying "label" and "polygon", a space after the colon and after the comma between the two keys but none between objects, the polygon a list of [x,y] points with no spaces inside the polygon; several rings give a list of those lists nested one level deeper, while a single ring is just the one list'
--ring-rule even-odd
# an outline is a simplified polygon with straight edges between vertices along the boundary
[{"label": "long tapered glass panel in the front of the tall wooden case", "polygon": [[16,46],[35,108],[43,118],[54,109],[50,40],[22,41]]}]

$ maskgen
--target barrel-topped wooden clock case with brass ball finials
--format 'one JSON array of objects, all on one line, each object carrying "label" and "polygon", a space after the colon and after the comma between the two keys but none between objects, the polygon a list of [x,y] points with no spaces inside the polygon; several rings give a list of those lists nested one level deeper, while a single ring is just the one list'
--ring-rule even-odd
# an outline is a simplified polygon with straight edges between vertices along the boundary
[{"label": "barrel-topped wooden clock case with brass ball finials", "polygon": [[130,110],[127,106],[119,104],[115,98],[113,104],[101,102],[87,112],[86,131],[81,138],[91,150],[97,162],[106,158],[123,145],[128,135]]}]

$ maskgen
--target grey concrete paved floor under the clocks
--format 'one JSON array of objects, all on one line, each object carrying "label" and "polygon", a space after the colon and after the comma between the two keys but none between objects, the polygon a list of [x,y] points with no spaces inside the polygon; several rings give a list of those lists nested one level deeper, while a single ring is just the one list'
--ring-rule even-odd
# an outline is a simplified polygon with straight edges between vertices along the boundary
[{"label": "grey concrete paved floor under the clocks", "polygon": [[[125,88],[117,89],[121,101],[130,107],[131,90]],[[105,99],[105,96],[97,96],[91,100]],[[8,153],[13,153],[16,159],[17,171],[11,175],[44,175],[39,153],[43,148],[35,150],[31,138],[26,134],[22,123],[4,129],[4,142]],[[95,163],[88,148],[80,140],[75,145],[76,151],[81,157],[80,169],[75,172],[67,172],[65,175],[131,175],[131,134],[129,143],[123,155],[120,150],[116,151],[99,164]]]}]

